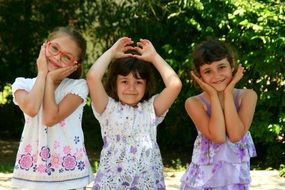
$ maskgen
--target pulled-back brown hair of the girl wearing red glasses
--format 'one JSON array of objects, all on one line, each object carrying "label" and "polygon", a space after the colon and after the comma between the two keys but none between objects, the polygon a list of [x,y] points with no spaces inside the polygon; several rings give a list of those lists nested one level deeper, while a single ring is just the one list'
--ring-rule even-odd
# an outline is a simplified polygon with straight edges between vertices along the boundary
[{"label": "pulled-back brown hair of the girl wearing red glasses", "polygon": [[73,79],[78,79],[81,77],[82,72],[83,72],[83,60],[85,58],[86,55],[86,49],[87,49],[87,45],[86,45],[86,40],[84,39],[84,37],[77,32],[76,30],[74,30],[72,27],[57,27],[55,28],[49,35],[47,40],[52,40],[55,38],[58,38],[62,35],[68,35],[71,37],[72,40],[75,41],[75,43],[77,44],[77,46],[79,47],[80,54],[78,56],[78,60],[77,62],[80,64],[80,66],[78,67],[78,69],[76,71],[74,71],[71,75],[68,76],[68,78],[73,78]]}]

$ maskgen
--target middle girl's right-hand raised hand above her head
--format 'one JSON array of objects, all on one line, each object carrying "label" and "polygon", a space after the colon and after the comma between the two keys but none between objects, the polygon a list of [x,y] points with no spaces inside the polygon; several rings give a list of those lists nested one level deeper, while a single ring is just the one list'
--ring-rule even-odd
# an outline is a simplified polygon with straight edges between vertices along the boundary
[{"label": "middle girl's right-hand raised hand above her head", "polygon": [[152,60],[157,54],[152,43],[146,39],[140,39],[140,41],[137,42],[137,47],[135,47],[135,50],[140,55],[133,55],[133,57],[136,57],[138,59],[141,59],[147,62],[152,62]]}]

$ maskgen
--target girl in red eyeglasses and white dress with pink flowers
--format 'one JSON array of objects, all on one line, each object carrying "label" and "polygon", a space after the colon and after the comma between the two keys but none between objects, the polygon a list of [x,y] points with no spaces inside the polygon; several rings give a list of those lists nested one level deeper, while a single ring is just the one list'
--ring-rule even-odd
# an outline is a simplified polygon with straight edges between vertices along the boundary
[{"label": "girl in red eyeglasses and white dress with pink flowers", "polygon": [[37,77],[13,83],[13,101],[25,118],[13,187],[83,189],[93,180],[81,127],[88,95],[79,79],[85,53],[81,34],[59,27],[41,46]]}]

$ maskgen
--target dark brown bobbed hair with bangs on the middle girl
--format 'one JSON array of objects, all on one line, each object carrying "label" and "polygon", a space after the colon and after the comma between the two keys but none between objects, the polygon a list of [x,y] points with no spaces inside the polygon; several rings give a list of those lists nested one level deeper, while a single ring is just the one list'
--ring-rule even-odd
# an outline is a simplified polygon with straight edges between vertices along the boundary
[{"label": "dark brown bobbed hair with bangs on the middle girl", "polygon": [[110,63],[105,89],[109,96],[119,101],[117,94],[118,75],[127,76],[132,73],[135,78],[141,78],[146,81],[146,88],[143,98],[140,102],[149,99],[155,90],[152,64],[133,57],[120,58]]}]

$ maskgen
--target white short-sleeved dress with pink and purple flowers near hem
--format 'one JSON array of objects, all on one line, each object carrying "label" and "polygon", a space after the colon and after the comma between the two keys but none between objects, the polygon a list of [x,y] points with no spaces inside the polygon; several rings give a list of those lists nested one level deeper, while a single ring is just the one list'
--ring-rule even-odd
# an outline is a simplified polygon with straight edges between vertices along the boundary
[{"label": "white short-sleeved dress with pink and purple flowers near hem", "polygon": [[[17,78],[14,93],[31,91],[36,78]],[[64,79],[55,91],[56,102],[67,94],[82,98],[82,104],[67,118],[47,127],[42,123],[43,110],[35,117],[24,113],[25,125],[16,157],[12,186],[28,189],[74,189],[92,181],[92,171],[84,146],[81,127],[83,106],[88,95],[83,79]],[[17,105],[16,99],[13,99]]]}]

